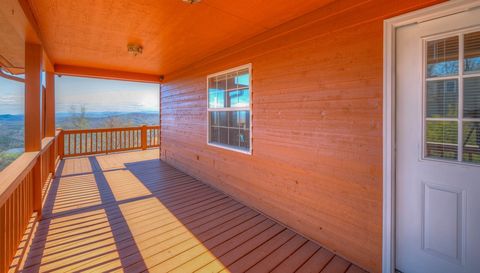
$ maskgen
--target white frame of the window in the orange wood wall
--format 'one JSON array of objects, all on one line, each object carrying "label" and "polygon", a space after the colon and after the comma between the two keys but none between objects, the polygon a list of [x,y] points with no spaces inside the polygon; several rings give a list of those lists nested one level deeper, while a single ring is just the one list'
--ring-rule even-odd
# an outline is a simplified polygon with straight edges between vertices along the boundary
[{"label": "white frame of the window in the orange wood wall", "polygon": [[[217,77],[217,76],[220,76],[220,75],[224,75],[224,74],[228,74],[228,73],[231,73],[231,72],[235,72],[235,71],[238,71],[238,70],[244,70],[244,69],[248,69],[248,92],[249,92],[249,98],[250,98],[250,101],[249,101],[249,104],[248,104],[248,107],[227,107],[227,108],[210,108],[210,104],[209,104],[209,92],[208,92],[208,82],[209,82],[209,79],[212,78],[212,77]],[[237,66],[237,67],[234,67],[234,68],[230,68],[230,69],[227,69],[227,70],[223,70],[223,71],[220,71],[220,72],[217,72],[217,73],[213,73],[213,74],[210,74],[210,75],[207,75],[207,82],[206,82],[206,90],[207,90],[207,145],[208,146],[212,146],[212,147],[216,147],[216,148],[221,148],[221,149],[225,149],[225,150],[229,150],[229,151],[233,151],[233,152],[238,152],[238,153],[242,153],[242,154],[247,154],[247,155],[252,155],[252,152],[253,152],[253,149],[252,149],[252,135],[253,135],[253,132],[252,132],[252,117],[253,117],[253,114],[252,114],[252,64],[249,63],[249,64],[245,64],[245,65],[241,65],[241,66]],[[227,145],[222,145],[222,144],[218,144],[218,143],[210,143],[210,112],[219,112],[219,111],[249,111],[249,122],[250,122],[250,127],[249,127],[249,149],[248,150],[242,150],[242,149],[235,149],[231,146],[227,146]]]}]

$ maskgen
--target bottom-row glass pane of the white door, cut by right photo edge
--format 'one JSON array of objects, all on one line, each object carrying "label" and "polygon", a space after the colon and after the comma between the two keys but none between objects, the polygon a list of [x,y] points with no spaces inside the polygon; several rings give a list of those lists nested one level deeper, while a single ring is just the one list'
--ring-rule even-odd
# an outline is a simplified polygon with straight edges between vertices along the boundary
[{"label": "bottom-row glass pane of the white door, cut by right photo edge", "polygon": [[463,161],[480,163],[480,122],[463,122]]}]

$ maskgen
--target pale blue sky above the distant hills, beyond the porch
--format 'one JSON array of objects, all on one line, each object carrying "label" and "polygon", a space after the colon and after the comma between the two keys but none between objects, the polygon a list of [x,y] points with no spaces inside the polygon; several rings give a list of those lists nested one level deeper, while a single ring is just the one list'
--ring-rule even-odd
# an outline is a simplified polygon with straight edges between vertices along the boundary
[{"label": "pale blue sky above the distant hills, beyond the porch", "polygon": [[[78,77],[56,77],[56,110],[69,112],[85,106],[87,112],[158,111],[159,85]],[[24,112],[23,83],[0,77],[0,114]]]}]

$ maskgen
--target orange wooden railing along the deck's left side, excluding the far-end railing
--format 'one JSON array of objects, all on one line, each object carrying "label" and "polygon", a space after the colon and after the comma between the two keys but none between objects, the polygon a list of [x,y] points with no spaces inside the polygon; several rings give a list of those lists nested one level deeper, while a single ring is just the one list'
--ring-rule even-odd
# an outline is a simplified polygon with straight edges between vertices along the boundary
[{"label": "orange wooden railing along the deck's left side, excluding the far-end railing", "polygon": [[43,187],[55,175],[58,134],[38,152],[22,154],[0,172],[0,272],[7,272],[32,214],[41,218]]}]

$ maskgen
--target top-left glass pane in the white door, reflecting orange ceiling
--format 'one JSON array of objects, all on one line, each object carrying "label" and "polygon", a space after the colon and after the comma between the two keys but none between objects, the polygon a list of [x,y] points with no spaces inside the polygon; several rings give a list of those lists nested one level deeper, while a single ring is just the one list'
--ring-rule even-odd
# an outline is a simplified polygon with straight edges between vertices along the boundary
[{"label": "top-left glass pane in the white door, reflecting orange ceiling", "polygon": [[427,42],[427,77],[458,74],[458,36]]}]

